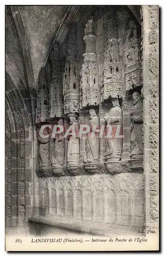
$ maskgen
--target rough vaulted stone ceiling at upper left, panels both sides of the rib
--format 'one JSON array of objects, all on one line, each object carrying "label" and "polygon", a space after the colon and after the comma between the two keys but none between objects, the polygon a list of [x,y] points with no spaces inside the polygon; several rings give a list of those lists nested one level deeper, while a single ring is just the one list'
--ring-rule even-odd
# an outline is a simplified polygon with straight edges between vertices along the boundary
[{"label": "rough vaulted stone ceiling at upper left, panels both sides of the rib", "polygon": [[39,70],[45,65],[49,54],[51,41],[56,37],[57,31],[69,9],[70,6],[6,7],[6,54],[24,81],[25,76],[19,45],[23,42],[17,39],[14,18],[20,15],[22,20],[36,83]]}]

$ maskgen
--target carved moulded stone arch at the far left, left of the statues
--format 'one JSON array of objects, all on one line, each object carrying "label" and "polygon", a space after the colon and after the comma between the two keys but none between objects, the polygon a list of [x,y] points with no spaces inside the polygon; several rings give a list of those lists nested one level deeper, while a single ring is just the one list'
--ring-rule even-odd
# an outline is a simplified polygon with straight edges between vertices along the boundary
[{"label": "carved moulded stone arch at the far left, left of the statues", "polygon": [[[6,112],[11,127],[12,221],[10,225],[22,226],[25,221],[28,221],[28,217],[32,216],[33,207],[30,200],[33,197],[33,168],[30,165],[33,152],[33,125],[29,110],[18,88],[21,82],[15,84],[16,81],[20,81],[18,76],[13,79],[6,72]],[[8,172],[7,169],[6,172]],[[7,201],[6,205],[8,205]]]}]

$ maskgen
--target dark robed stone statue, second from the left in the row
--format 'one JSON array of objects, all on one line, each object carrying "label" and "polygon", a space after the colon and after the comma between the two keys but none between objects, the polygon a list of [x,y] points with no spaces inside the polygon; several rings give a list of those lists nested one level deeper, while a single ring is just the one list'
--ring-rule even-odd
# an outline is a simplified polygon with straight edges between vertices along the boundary
[{"label": "dark robed stone statue, second from the left in the row", "polygon": [[[63,126],[63,119],[59,119],[58,124]],[[52,168],[60,168],[64,163],[64,132],[56,135],[51,163]]]}]

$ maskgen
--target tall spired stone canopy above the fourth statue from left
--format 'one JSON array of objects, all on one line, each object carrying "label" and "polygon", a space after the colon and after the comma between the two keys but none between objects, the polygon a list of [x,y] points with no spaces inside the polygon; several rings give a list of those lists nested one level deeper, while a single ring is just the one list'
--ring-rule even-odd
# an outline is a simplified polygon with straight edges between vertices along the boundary
[{"label": "tall spired stone canopy above the fourth statue from left", "polygon": [[80,71],[80,101],[83,107],[98,105],[100,102],[98,66],[96,63],[96,38],[94,35],[94,21],[91,18],[86,24],[84,36],[86,53],[83,54],[84,62]]}]

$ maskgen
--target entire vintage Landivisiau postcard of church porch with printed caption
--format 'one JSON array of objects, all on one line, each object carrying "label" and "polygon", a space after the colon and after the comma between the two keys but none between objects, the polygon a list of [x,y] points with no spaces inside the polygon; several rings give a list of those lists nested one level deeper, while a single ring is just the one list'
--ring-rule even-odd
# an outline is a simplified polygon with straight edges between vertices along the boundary
[{"label": "entire vintage Landivisiau postcard of church porch with printed caption", "polygon": [[6,250],[159,250],[159,7],[5,12]]}]

